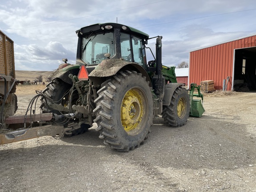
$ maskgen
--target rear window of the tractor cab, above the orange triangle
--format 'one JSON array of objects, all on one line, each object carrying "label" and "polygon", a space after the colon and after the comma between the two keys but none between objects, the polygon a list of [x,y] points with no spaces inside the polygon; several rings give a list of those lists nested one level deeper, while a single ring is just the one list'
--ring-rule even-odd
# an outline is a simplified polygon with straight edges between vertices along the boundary
[{"label": "rear window of the tractor cab, above the orange triangle", "polygon": [[86,64],[99,64],[105,53],[110,53],[110,57],[115,55],[114,34],[91,34],[83,37],[81,59]]}]

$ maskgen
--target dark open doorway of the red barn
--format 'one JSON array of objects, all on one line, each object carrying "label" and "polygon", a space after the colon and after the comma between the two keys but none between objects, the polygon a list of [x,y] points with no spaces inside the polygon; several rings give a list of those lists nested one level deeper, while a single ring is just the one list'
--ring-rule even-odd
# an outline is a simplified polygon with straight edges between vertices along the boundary
[{"label": "dark open doorway of the red barn", "polygon": [[256,47],[235,49],[233,90],[256,91]]}]

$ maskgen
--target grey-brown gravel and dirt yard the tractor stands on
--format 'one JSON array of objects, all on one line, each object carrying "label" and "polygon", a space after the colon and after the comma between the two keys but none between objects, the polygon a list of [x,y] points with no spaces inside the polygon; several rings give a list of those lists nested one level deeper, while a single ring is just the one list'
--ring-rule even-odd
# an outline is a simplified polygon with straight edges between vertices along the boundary
[{"label": "grey-brown gravel and dirt yard the tractor stands on", "polygon": [[[22,114],[38,87],[17,87]],[[157,117],[130,152],[90,128],[0,146],[0,192],[256,192],[256,92],[204,95],[206,112],[180,128]]]}]

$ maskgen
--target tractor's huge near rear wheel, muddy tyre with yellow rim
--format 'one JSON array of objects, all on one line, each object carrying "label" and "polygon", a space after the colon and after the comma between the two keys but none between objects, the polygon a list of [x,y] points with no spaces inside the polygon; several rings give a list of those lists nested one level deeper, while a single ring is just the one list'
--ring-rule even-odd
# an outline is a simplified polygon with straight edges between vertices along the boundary
[{"label": "tractor's huge near rear wheel, muddy tyre with yellow rim", "polygon": [[118,151],[129,151],[147,139],[153,120],[151,88],[137,72],[119,72],[105,81],[95,100],[100,138]]}]

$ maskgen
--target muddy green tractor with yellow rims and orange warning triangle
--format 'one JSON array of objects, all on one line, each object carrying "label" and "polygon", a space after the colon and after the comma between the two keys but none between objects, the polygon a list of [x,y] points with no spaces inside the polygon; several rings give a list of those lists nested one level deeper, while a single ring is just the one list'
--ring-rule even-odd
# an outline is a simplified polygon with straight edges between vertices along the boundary
[{"label": "muddy green tractor with yellow rims and orange warning triangle", "polygon": [[95,122],[104,144],[128,151],[147,138],[154,116],[180,127],[189,114],[204,112],[201,101],[191,110],[192,97],[202,98],[200,89],[189,96],[176,81],[175,67],[162,65],[162,36],[152,37],[156,56],[147,62],[146,44],[152,38],[135,28],[93,24],[76,34],[76,64],[64,59],[52,73],[41,106],[55,114],[55,124],[66,127],[66,136],[84,132]]}]

